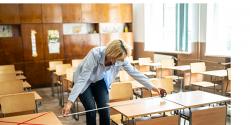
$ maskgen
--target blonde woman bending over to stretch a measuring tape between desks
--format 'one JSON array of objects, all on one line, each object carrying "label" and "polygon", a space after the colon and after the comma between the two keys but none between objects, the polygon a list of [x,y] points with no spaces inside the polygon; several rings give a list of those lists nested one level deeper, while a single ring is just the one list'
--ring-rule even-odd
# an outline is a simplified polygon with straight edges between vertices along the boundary
[{"label": "blonde woman bending over to stretch a measuring tape between desks", "polygon": [[[108,90],[121,68],[149,90],[159,93],[148,78],[125,59],[130,53],[130,49],[121,40],[114,40],[107,47],[93,48],[74,72],[74,87],[63,108],[63,115],[69,113],[77,97],[85,110],[96,109],[96,105],[97,108],[108,106]],[[100,125],[110,125],[109,109],[98,110],[98,113]],[[87,125],[96,125],[96,111],[86,113],[86,122]]]}]

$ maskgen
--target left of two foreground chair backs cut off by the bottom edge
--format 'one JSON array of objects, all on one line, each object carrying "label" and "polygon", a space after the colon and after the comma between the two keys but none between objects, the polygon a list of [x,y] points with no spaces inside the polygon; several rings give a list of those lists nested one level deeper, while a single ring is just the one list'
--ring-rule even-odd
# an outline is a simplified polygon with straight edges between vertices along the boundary
[{"label": "left of two foreground chair backs cut off by the bottom edge", "polygon": [[136,125],[180,125],[180,117],[167,116],[167,117],[158,117],[149,120],[140,120],[135,122]]}]

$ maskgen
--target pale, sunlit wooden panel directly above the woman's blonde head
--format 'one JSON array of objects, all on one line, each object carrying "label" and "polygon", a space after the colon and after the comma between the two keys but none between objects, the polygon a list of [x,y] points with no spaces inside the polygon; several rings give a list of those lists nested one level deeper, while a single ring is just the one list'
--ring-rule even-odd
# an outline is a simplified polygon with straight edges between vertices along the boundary
[{"label": "pale, sunlit wooden panel directly above the woman's blonde head", "polygon": [[127,45],[129,45],[132,49],[134,47],[134,38],[132,32],[126,32],[126,33],[103,33],[101,34],[101,45],[107,45],[110,41],[121,39]]}]

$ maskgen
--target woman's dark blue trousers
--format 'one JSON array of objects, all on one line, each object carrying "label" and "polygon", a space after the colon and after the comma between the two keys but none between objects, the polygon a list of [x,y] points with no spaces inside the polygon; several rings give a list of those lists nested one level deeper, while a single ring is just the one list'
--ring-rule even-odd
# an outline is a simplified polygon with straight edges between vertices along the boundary
[{"label": "woman's dark blue trousers", "polygon": [[[90,86],[79,95],[85,110],[91,110],[108,106],[109,94],[104,80],[91,83]],[[98,110],[100,125],[110,125],[109,108]],[[96,111],[86,113],[87,125],[96,125]]]}]

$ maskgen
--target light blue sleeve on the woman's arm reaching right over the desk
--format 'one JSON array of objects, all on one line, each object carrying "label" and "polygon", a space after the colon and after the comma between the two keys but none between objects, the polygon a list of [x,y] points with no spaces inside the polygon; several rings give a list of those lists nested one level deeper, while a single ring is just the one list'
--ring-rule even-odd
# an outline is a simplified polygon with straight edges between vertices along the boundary
[{"label": "light blue sleeve on the woman's arm reaching right over the desk", "polygon": [[125,61],[123,64],[123,69],[136,81],[151,90],[154,86],[150,83],[148,77],[140,73],[136,68],[134,68],[129,61]]}]

